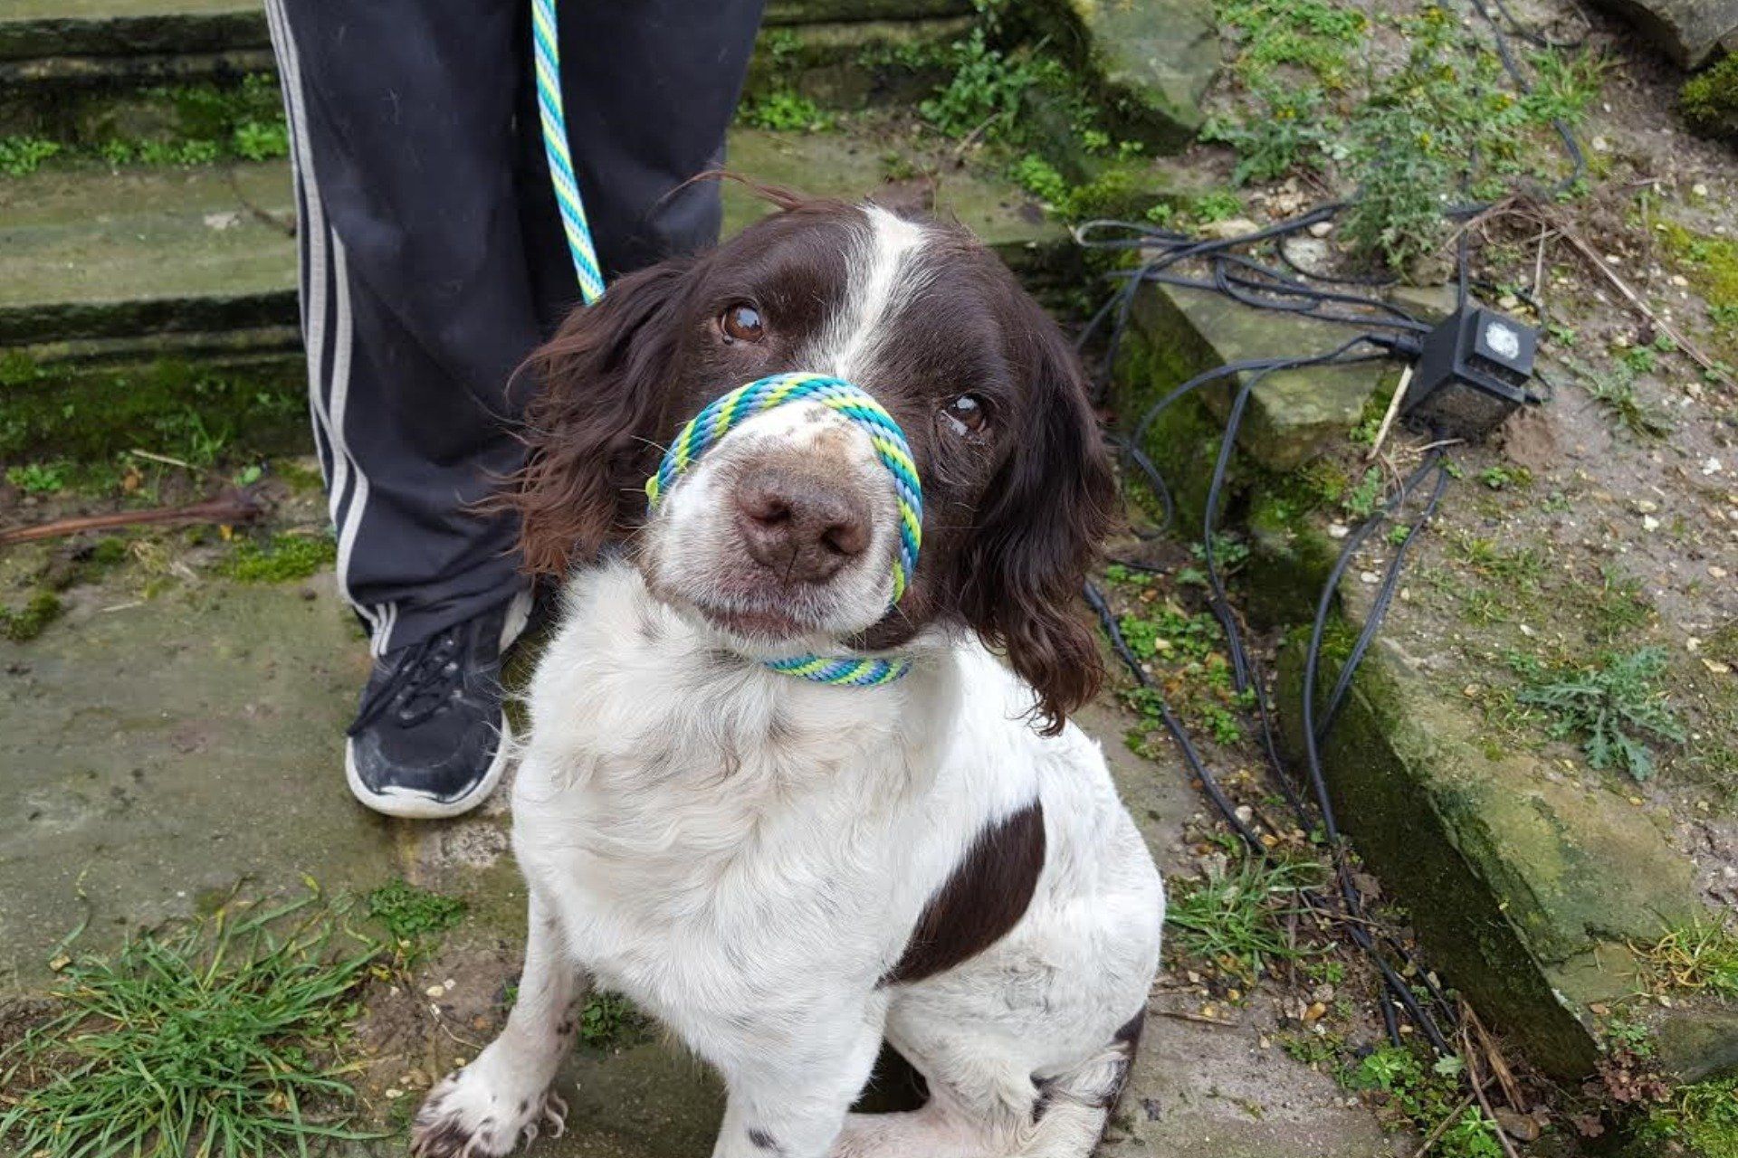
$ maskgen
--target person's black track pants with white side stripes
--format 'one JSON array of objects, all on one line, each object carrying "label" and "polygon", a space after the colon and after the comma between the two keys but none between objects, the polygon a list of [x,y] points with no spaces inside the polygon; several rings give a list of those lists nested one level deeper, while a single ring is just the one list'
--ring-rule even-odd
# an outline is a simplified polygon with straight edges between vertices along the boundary
[{"label": "person's black track pants with white side stripes", "polygon": [[[521,589],[513,372],[579,302],[542,160],[530,0],[268,0],[301,224],[309,408],[344,597],[375,655]],[[560,0],[607,278],[716,241],[761,0]]]}]

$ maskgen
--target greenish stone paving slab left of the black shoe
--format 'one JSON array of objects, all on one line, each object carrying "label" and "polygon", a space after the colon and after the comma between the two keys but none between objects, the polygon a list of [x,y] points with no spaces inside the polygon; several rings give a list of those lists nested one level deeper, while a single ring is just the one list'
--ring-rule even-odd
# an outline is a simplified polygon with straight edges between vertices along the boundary
[{"label": "greenish stone paving slab left of the black shoe", "polygon": [[368,658],[332,576],[306,592],[75,589],[52,630],[0,642],[0,990],[40,983],[87,917],[106,944],[247,878],[391,875],[391,825],[339,764]]}]

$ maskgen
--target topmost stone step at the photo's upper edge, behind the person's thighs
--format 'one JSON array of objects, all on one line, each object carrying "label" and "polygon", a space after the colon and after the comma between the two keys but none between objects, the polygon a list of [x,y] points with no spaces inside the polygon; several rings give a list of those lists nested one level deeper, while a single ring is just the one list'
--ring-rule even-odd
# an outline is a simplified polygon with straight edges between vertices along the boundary
[{"label": "topmost stone step at the photo's upper edge, behind the person's thighs", "polygon": [[[866,49],[952,38],[970,12],[970,0],[770,0],[760,56],[784,38],[779,59],[791,83],[793,75],[855,63]],[[104,102],[273,68],[255,0],[9,0],[0,10],[0,134],[76,141],[80,127],[104,120]],[[846,87],[846,95],[855,92]]]}]

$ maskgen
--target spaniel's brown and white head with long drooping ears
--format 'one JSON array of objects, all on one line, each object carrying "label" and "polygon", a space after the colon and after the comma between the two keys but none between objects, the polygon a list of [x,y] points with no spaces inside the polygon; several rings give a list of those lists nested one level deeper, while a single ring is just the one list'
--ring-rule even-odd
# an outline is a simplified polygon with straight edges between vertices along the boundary
[{"label": "spaniel's brown and white head with long drooping ears", "polygon": [[[563,573],[627,536],[660,599],[749,653],[888,649],[965,625],[1006,651],[1048,729],[1097,689],[1078,601],[1111,519],[1109,462],[1074,351],[965,229],[791,201],[718,250],[622,278],[534,370],[509,498],[528,569]],[[648,514],[645,479],[680,427],[782,372],[857,384],[911,443],[923,550],[897,606],[888,472],[819,403],[733,425]]]}]

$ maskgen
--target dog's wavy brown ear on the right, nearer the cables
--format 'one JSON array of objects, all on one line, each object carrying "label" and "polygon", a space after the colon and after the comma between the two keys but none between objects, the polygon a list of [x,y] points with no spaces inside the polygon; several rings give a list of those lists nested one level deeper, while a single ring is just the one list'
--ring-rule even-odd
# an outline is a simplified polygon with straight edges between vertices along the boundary
[{"label": "dog's wavy brown ear on the right, nearer the cables", "polygon": [[1038,691],[1053,736],[1104,679],[1081,585],[1111,530],[1116,481],[1074,349],[1034,302],[1020,311],[1012,354],[1029,425],[985,488],[959,590],[966,622]]}]

